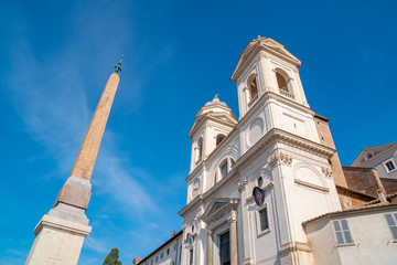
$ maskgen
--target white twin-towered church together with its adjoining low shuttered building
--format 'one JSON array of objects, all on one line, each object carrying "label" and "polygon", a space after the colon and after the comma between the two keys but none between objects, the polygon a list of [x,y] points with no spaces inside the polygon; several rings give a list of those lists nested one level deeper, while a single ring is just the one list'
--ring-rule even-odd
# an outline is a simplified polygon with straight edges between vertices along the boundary
[{"label": "white twin-towered church together with its adjoining low shuttered building", "polygon": [[350,187],[300,66],[270,38],[248,43],[232,75],[238,120],[215,96],[189,134],[183,226],[167,242],[180,255],[136,264],[395,264],[397,194],[376,176],[375,197]]}]

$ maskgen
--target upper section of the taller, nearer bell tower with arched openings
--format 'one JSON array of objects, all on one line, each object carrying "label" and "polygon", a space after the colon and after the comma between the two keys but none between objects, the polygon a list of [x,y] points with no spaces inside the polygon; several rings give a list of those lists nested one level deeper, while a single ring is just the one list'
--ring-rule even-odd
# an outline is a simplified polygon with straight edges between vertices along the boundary
[{"label": "upper section of the taller, nearer bell tower with arched openings", "polygon": [[232,75],[237,84],[239,120],[264,107],[265,134],[279,128],[320,142],[315,113],[309,107],[299,77],[301,64],[270,38],[258,36],[249,42]]}]

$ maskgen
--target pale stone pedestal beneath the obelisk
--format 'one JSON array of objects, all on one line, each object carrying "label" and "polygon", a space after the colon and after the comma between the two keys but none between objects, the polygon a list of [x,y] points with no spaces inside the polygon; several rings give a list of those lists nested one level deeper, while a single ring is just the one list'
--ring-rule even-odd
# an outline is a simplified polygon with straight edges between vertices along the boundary
[{"label": "pale stone pedestal beneath the obelisk", "polygon": [[25,265],[76,265],[90,233],[84,210],[60,203],[40,220]]}]

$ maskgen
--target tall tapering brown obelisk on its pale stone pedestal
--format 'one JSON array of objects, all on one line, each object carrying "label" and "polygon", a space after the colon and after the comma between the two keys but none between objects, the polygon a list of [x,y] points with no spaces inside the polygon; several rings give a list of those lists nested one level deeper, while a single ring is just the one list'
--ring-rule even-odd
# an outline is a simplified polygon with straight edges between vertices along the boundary
[{"label": "tall tapering brown obelisk on its pale stone pedestal", "polygon": [[26,265],[76,265],[78,262],[84,239],[92,231],[85,215],[92,193],[90,177],[120,81],[121,60],[105,86],[71,176],[54,206],[34,229],[36,239]]}]

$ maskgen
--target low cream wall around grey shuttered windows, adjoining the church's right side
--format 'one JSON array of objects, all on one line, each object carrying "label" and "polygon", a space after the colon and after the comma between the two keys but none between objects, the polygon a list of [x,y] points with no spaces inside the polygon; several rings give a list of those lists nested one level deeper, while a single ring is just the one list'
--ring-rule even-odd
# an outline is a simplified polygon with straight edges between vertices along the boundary
[{"label": "low cream wall around grey shuttered windows, adjoining the church's right side", "polygon": [[[341,265],[393,265],[397,261],[397,242],[393,241],[385,213],[397,212],[382,210],[360,213],[346,213],[307,224],[309,243],[313,250],[315,264]],[[333,220],[346,219],[354,243],[339,246]]]}]

